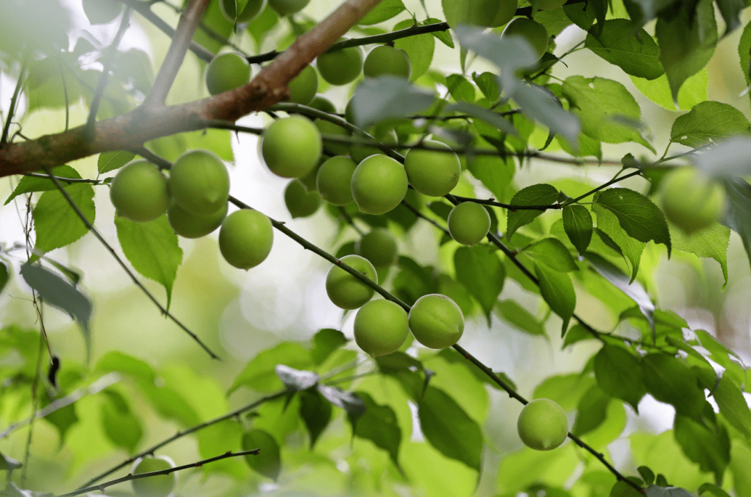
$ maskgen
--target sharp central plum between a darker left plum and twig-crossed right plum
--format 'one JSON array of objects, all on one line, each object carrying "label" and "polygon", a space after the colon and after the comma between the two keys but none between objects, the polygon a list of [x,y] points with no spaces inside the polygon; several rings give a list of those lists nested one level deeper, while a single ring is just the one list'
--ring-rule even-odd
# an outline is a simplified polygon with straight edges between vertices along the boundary
[{"label": "sharp central plum between a darker left plum and twig-crossed right plum", "polygon": [[407,173],[393,158],[371,155],[352,174],[352,197],[367,214],[385,214],[394,209],[407,193]]}]

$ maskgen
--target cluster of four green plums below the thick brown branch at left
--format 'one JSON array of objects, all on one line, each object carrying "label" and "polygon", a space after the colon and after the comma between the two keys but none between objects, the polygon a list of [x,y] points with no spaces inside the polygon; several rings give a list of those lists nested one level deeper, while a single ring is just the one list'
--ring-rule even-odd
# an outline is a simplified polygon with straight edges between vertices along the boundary
[{"label": "cluster of four green plums below the thick brown branch at left", "polygon": [[199,238],[219,230],[219,249],[229,264],[248,270],[267,258],[272,224],[261,212],[240,209],[228,215],[230,177],[222,159],[207,150],[180,155],[169,177],[156,164],[139,159],[125,164],[110,184],[118,215],[153,221],[167,214],[175,233]]}]

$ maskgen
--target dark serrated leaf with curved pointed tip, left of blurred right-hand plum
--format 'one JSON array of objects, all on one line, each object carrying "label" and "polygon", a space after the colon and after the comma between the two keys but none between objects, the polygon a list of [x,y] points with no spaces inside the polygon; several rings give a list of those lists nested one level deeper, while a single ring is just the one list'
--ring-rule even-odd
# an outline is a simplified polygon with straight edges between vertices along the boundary
[{"label": "dark serrated leaf with curved pointed tip, left of blurred right-hand plum", "polygon": [[596,202],[614,213],[629,236],[640,242],[654,240],[666,245],[670,257],[668,222],[652,200],[628,188],[609,188],[598,195]]}]

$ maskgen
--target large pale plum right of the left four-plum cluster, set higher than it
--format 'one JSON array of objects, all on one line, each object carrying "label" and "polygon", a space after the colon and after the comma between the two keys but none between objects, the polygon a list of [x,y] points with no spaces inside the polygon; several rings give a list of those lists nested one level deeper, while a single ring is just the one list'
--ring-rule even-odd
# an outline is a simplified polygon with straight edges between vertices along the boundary
[{"label": "large pale plum right of the left four-plum cluster, set higher than it", "polygon": [[261,142],[264,163],[282,178],[306,176],[318,165],[322,151],[321,132],[303,116],[276,119]]}]

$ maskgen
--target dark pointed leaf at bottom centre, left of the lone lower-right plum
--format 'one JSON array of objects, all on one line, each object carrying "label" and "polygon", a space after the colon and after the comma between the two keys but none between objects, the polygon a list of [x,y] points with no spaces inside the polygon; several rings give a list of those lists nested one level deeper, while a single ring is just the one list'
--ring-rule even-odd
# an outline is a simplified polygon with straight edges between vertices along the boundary
[{"label": "dark pointed leaf at bottom centre, left of the lone lower-right plum", "polygon": [[444,456],[480,471],[482,432],[451,396],[428,386],[418,403],[425,439]]}]

